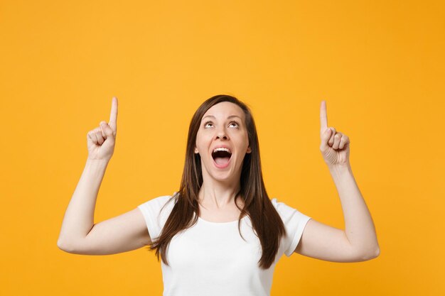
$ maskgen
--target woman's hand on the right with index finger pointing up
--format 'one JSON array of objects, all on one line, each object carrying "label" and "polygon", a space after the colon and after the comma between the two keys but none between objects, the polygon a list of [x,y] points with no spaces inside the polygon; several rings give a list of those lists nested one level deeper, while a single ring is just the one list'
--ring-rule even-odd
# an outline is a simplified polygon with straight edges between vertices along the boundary
[{"label": "woman's hand on the right with index finger pointing up", "polygon": [[320,126],[320,150],[325,163],[328,166],[349,165],[349,137],[328,127],[326,101],[321,101],[320,105]]}]

